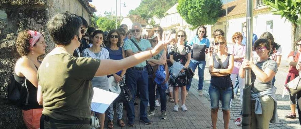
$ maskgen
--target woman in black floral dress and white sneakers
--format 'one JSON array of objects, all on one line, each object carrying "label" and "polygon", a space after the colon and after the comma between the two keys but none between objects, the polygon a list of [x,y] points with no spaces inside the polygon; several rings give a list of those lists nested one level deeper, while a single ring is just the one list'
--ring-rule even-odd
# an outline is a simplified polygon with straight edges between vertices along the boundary
[{"label": "woman in black floral dress and white sneakers", "polygon": [[[173,97],[175,100],[178,100],[178,91],[179,87],[181,87],[181,100],[182,100],[182,111],[187,111],[187,107],[185,105],[186,101],[186,85],[187,85],[187,78],[185,73],[185,68],[188,68],[190,59],[191,59],[191,48],[190,46],[185,44],[186,41],[186,33],[183,30],[179,30],[176,33],[177,38],[175,39],[175,43],[172,48],[171,52],[169,53],[170,62],[174,64],[178,62],[182,64],[184,67],[180,74],[175,80],[170,79],[169,86],[173,87]],[[175,106],[173,108],[174,111],[179,110],[178,101],[175,101]]]}]

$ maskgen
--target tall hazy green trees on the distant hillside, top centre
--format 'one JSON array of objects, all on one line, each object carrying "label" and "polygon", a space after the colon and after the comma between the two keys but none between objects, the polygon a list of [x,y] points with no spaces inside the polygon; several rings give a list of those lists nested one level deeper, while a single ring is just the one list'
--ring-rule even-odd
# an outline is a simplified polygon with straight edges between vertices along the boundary
[{"label": "tall hazy green trees on the distant hillside, top centre", "polygon": [[147,22],[154,16],[161,19],[166,16],[165,12],[177,2],[178,0],[142,0],[135,10],[129,12],[128,16],[132,14],[140,15]]}]

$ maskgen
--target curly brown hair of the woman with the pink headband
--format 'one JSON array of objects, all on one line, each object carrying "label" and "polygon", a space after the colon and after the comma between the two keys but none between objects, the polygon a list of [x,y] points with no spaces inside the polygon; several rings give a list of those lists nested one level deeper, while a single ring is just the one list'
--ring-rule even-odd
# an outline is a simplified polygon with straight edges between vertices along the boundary
[{"label": "curly brown hair of the woman with the pink headband", "polygon": [[[30,44],[29,44],[29,39],[32,38],[32,36],[28,33],[28,30],[23,30],[20,33],[18,33],[18,37],[16,40],[16,48],[17,52],[20,55],[27,55],[30,52]],[[34,44],[33,46],[36,46]]]}]

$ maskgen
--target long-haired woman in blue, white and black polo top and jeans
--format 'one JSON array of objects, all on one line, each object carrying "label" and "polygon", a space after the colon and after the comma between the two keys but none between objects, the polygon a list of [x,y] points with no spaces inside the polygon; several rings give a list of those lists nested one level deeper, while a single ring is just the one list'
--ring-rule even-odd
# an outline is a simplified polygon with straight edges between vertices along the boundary
[{"label": "long-haired woman in blue, white and black polo top and jeans", "polygon": [[[207,30],[206,27],[200,26],[197,29],[196,36],[188,42],[188,45],[192,46],[192,54],[191,61],[189,67],[194,72],[198,67],[198,75],[199,75],[199,84],[198,84],[198,92],[199,96],[203,96],[203,83],[204,83],[204,70],[206,66],[206,54],[208,48],[210,46],[210,41],[207,38]],[[187,84],[187,94],[191,86],[192,78],[189,80],[189,84]]]}]

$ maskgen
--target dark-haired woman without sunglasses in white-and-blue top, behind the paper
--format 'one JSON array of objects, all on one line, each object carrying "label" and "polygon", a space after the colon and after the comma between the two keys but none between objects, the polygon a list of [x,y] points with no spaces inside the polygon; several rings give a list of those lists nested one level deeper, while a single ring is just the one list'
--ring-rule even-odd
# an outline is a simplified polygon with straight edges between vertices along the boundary
[{"label": "dark-haired woman without sunglasses in white-and-blue top, behind the paper", "polygon": [[[81,57],[92,57],[95,59],[110,59],[109,52],[107,49],[101,48],[103,43],[104,32],[101,30],[94,31],[92,35],[92,44],[93,46],[82,51]],[[109,82],[107,76],[97,76],[93,77],[91,80],[92,86],[100,88],[102,90],[109,90]],[[98,119],[100,119],[100,126],[104,127],[104,118],[105,115],[102,113],[97,113]]]}]

